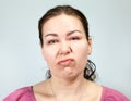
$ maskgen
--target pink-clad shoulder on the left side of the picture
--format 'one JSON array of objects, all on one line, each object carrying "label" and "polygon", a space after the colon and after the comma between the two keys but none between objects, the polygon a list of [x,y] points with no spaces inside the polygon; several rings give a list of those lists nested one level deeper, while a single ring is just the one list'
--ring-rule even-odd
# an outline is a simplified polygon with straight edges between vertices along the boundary
[{"label": "pink-clad shoulder on the left side of the picture", "polygon": [[33,88],[23,87],[10,93],[3,101],[35,101]]}]

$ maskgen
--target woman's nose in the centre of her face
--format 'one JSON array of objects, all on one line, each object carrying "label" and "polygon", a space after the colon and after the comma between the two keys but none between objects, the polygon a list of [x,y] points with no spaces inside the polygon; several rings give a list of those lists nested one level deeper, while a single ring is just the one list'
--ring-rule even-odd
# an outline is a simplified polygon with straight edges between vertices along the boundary
[{"label": "woman's nose in the centre of her face", "polygon": [[72,52],[72,48],[71,48],[70,43],[68,41],[62,41],[60,45],[59,53],[66,55],[71,52]]}]

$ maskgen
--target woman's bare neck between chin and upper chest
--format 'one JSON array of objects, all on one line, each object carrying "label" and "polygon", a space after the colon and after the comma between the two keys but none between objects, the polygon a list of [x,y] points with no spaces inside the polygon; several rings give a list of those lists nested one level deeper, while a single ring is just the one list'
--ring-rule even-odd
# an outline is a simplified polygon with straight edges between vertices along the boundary
[{"label": "woman's bare neck between chin and upper chest", "polygon": [[51,77],[49,80],[52,92],[57,97],[79,94],[83,91],[87,81],[83,76],[70,80]]}]

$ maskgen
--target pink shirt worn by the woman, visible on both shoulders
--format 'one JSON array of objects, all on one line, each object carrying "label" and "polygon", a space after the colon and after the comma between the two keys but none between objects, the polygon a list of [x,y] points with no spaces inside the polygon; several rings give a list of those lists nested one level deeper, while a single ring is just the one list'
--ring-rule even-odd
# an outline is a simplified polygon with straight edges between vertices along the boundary
[{"label": "pink shirt worn by the woman, visible on both shoulders", "polygon": [[[36,101],[33,87],[24,87],[9,94],[3,101]],[[100,101],[129,101],[121,92],[103,87]]]}]

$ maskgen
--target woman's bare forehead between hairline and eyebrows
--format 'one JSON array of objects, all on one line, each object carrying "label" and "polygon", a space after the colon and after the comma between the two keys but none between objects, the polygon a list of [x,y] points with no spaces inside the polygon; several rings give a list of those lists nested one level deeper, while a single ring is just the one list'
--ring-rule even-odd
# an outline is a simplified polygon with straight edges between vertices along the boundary
[{"label": "woman's bare forehead between hairline and eyebrows", "polygon": [[53,16],[43,25],[43,34],[75,29],[83,30],[81,21],[76,16],[66,14]]}]

